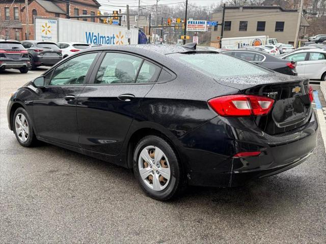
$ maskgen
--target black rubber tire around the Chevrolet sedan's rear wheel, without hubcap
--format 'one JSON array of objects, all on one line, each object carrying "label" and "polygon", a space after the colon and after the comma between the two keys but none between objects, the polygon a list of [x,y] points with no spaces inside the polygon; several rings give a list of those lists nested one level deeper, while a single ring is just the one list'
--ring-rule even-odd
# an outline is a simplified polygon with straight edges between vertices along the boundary
[{"label": "black rubber tire around the Chevrolet sedan's rear wheel, without hubcap", "polygon": [[[166,188],[161,191],[154,191],[153,189],[148,187],[147,184],[142,179],[142,177],[140,176],[140,172],[139,172],[140,154],[142,150],[148,146],[155,146],[161,149],[169,161],[169,167],[171,172],[170,180],[167,182],[168,185],[166,186]],[[142,138],[138,142],[137,146],[134,149],[132,167],[133,167],[134,175],[137,178],[139,185],[141,186],[143,191],[148,196],[156,200],[166,201],[175,198],[178,195],[180,195],[180,193],[183,192],[184,189],[186,188],[185,175],[182,170],[182,165],[180,164],[176,156],[176,153],[171,147],[171,145],[161,137],[150,135]]]}]

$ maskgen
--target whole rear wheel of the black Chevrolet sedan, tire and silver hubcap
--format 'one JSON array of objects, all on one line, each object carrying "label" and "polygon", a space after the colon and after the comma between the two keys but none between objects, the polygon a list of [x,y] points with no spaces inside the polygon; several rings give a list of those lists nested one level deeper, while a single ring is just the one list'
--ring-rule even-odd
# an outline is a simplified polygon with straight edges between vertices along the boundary
[{"label": "whole rear wheel of the black Chevrolet sedan, tire and silver hubcap", "polygon": [[134,150],[133,171],[143,191],[166,201],[185,188],[182,167],[170,144],[158,136],[146,136]]}]

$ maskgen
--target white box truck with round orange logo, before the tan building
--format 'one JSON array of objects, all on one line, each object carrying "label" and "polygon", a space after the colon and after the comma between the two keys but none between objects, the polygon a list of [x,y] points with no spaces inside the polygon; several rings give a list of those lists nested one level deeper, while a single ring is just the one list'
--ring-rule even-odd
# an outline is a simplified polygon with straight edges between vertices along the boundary
[{"label": "white box truck with round orange logo, before the tan building", "polygon": [[233,37],[233,38],[222,38],[222,48],[234,47],[242,48],[248,46],[260,46],[277,43],[276,38],[269,38],[268,36],[254,36],[254,37]]}]

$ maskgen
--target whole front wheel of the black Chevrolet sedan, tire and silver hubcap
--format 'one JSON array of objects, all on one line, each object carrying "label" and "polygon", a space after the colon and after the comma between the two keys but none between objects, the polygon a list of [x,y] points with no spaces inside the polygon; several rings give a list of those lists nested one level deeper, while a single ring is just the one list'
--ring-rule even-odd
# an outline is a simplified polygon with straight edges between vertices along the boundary
[{"label": "whole front wheel of the black Chevrolet sedan, tire and silver hubcap", "polygon": [[13,117],[13,130],[17,141],[25,147],[33,146],[37,139],[30,116],[23,108],[18,108]]}]

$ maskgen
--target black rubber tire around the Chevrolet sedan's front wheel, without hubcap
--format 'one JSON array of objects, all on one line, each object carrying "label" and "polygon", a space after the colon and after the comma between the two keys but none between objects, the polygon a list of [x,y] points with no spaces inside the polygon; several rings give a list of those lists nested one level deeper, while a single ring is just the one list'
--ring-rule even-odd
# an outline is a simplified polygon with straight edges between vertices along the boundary
[{"label": "black rubber tire around the Chevrolet sedan's front wheel, without hubcap", "polygon": [[[21,137],[17,134],[17,125],[16,125],[16,117],[19,114],[23,114],[24,117],[26,118],[27,124],[28,125],[28,137],[26,141],[22,141]],[[24,108],[17,108],[17,110],[14,113],[14,117],[13,117],[13,121],[12,121],[12,125],[13,125],[13,131],[15,133],[16,139],[19,142],[20,145],[25,146],[25,147],[32,147],[34,145],[36,145],[37,143],[37,139],[36,139],[36,135],[34,133],[34,129],[33,129],[33,125],[32,125],[32,120],[29,116],[29,114],[26,112],[26,110]]]}]

